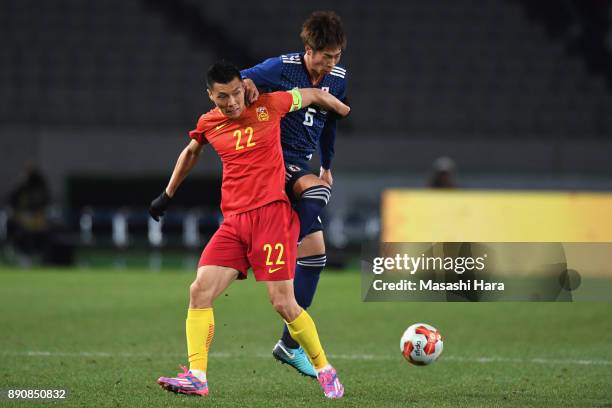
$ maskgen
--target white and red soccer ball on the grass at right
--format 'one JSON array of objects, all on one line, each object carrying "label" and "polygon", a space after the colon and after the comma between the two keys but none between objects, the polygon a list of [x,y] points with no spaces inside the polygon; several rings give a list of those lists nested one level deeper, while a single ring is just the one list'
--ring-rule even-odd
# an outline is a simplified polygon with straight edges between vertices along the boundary
[{"label": "white and red soccer ball on the grass at right", "polygon": [[443,347],[444,342],[440,332],[425,323],[415,323],[407,328],[400,340],[402,355],[414,365],[433,363],[442,354]]}]

